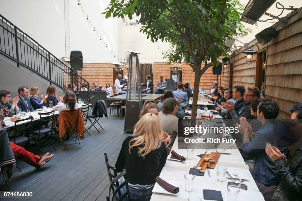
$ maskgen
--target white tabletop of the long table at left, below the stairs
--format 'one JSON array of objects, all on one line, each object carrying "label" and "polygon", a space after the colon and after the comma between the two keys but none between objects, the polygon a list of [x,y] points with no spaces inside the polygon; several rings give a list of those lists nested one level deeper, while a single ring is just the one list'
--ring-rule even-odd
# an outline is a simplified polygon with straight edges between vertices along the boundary
[{"label": "white tabletop of the long table at left, below the stairs", "polygon": [[[78,103],[78,108],[81,108],[82,105],[84,105],[83,103]],[[91,104],[89,104],[90,106]],[[58,109],[51,109],[51,108],[47,108],[47,111],[43,111],[41,109],[38,109],[38,110],[35,110],[35,111],[32,111],[32,112],[27,112],[25,114],[25,116],[23,115],[20,115],[21,116],[21,119],[26,119],[26,118],[29,118],[30,116],[33,117],[33,120],[32,121],[38,121],[40,119],[40,115],[38,113],[43,113],[43,112],[50,112],[50,111],[54,111],[54,115],[58,115],[59,114],[59,111]],[[14,115],[16,116],[16,115]],[[3,129],[6,129],[6,128],[10,128],[10,127],[14,127],[15,126],[15,122],[12,122],[10,120],[10,117],[5,117],[4,118],[4,122],[5,122],[5,127],[3,127]],[[27,120],[27,121],[22,121],[20,123],[17,123],[18,125],[20,124],[26,124],[30,122],[30,120]]]}]

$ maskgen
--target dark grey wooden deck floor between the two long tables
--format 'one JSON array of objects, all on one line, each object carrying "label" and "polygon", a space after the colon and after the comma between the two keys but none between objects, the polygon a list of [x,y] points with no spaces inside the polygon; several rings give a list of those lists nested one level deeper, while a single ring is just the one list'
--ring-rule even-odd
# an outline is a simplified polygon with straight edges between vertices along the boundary
[{"label": "dark grey wooden deck floor between the two long tables", "polygon": [[114,165],[126,136],[124,121],[117,117],[100,120],[104,131],[91,129],[89,135],[78,144],[67,146],[56,143],[57,151],[51,147],[44,150],[55,153],[44,167],[36,170],[27,164],[15,170],[9,181],[12,191],[33,192],[26,201],[105,201],[109,180],[104,163],[107,152],[110,164]]}]

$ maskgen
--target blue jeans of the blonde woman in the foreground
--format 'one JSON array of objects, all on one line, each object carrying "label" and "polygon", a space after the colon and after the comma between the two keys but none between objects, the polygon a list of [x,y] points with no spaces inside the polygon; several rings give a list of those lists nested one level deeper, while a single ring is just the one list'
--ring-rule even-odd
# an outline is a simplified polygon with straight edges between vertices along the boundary
[{"label": "blue jeans of the blonde woman in the foreground", "polygon": [[149,201],[154,185],[129,185],[131,201]]}]

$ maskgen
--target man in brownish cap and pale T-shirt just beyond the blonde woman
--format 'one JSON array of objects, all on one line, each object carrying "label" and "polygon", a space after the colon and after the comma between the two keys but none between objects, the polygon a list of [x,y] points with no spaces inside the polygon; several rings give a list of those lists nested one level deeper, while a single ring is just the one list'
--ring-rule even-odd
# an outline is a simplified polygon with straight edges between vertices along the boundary
[{"label": "man in brownish cap and pale T-shirt just beyond the blonde woman", "polygon": [[174,98],[167,98],[162,105],[162,111],[158,113],[161,127],[164,132],[172,134],[173,131],[178,134],[178,118],[175,116],[178,108],[178,102]]}]

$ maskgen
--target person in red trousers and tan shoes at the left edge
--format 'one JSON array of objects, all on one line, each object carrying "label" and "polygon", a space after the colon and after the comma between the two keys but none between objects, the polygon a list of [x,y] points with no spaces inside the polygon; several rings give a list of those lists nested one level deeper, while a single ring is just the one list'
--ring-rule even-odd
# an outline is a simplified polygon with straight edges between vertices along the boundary
[{"label": "person in red trousers and tan shoes at the left edge", "polygon": [[[4,111],[0,110],[0,132],[4,132],[4,134],[7,134],[6,129],[2,130],[2,126],[5,125],[3,119]],[[40,167],[44,166],[45,163],[47,163],[54,156],[54,154],[50,153],[46,153],[43,156],[37,156],[25,150],[23,147],[16,145],[15,143],[10,142],[9,144],[16,158],[24,161],[25,163],[33,167],[36,167],[36,169],[39,169]]]}]

